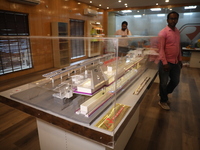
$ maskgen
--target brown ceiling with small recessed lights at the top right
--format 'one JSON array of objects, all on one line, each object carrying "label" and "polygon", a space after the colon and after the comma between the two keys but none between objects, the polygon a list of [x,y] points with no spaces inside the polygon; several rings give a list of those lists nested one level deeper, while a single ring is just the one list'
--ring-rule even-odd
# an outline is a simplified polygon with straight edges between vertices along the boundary
[{"label": "brown ceiling with small recessed lights at the top right", "polygon": [[[159,5],[187,5],[188,3],[195,5],[200,5],[200,0],[169,0],[169,2],[165,2],[165,0],[77,0],[82,3],[86,3],[91,6],[95,6],[97,8],[102,9],[133,9],[139,7],[158,7]],[[158,3],[158,6],[156,5]],[[101,4],[101,6],[99,6]],[[127,7],[126,5],[127,4]]]}]

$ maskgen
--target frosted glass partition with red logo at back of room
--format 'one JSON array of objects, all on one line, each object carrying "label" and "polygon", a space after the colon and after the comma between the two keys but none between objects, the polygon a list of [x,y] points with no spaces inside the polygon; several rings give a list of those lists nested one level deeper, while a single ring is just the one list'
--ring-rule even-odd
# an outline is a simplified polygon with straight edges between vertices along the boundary
[{"label": "frosted glass partition with red logo at back of room", "polygon": [[[200,5],[196,5],[195,9],[185,9],[183,6],[160,8],[159,11],[141,9],[132,10],[131,13],[109,12],[108,35],[114,35],[116,30],[121,28],[122,20],[126,20],[128,22],[128,29],[133,35],[157,36],[159,31],[168,24],[167,15],[172,10],[179,13],[176,28],[180,31],[182,51],[199,50],[200,44],[198,46],[197,43],[200,39]],[[114,27],[113,24],[115,24]],[[189,66],[190,55],[184,52],[182,60],[183,65]]]}]

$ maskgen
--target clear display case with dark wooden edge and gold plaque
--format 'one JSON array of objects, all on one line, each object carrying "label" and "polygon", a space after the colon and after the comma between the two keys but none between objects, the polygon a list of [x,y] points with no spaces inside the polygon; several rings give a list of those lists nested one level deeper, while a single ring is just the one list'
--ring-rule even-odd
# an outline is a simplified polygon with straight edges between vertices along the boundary
[{"label": "clear display case with dark wooden edge and gold plaque", "polygon": [[[59,38],[69,43],[71,40]],[[87,43],[92,37],[81,39]],[[116,149],[125,136],[123,132],[134,130],[141,96],[156,76],[159,38],[101,37],[99,40],[104,43],[103,55],[43,74],[42,80],[17,87],[20,89],[17,92],[3,92],[1,101],[5,98],[23,105],[23,110],[39,122],[61,127],[65,134],[69,131],[97,145]],[[120,40],[130,43],[124,56],[118,56]],[[135,124],[131,130],[130,123]],[[120,145],[123,148],[124,143]]]}]

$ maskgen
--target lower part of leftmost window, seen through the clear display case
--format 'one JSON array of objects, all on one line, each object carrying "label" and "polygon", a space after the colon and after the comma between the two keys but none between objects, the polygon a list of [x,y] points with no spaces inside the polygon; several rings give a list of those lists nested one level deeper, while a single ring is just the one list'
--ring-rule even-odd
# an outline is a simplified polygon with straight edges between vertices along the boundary
[{"label": "lower part of leftmost window, seen through the clear display case", "polygon": [[29,39],[0,39],[0,75],[32,68]]}]

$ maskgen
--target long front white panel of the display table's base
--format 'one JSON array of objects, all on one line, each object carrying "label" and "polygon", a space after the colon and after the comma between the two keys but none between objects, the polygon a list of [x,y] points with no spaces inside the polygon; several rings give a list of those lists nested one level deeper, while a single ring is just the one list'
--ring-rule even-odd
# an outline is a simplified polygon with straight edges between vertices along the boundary
[{"label": "long front white panel of the display table's base", "polygon": [[37,127],[41,150],[106,150],[105,146],[43,120],[37,119]]}]

